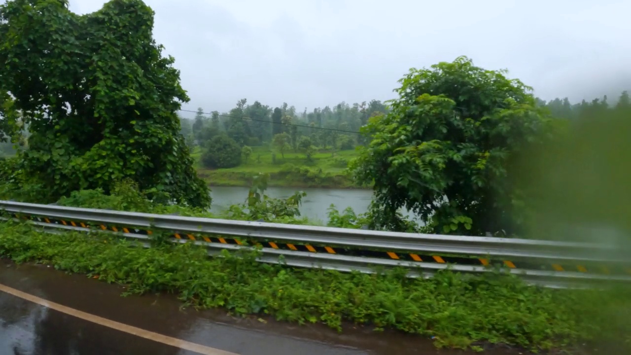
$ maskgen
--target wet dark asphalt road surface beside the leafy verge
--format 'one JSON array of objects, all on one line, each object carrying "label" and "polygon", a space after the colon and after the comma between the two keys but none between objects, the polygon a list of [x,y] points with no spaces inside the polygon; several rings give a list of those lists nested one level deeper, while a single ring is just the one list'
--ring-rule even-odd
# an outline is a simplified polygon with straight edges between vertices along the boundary
[{"label": "wet dark asphalt road surface beside the leafy verge", "polygon": [[[42,265],[15,265],[0,260],[0,284],[158,334],[240,355],[391,355],[465,354],[438,351],[425,339],[370,329],[338,334],[321,325],[298,326],[271,319],[235,318],[225,312],[180,308],[170,295],[129,296],[114,286],[68,275]],[[152,354],[188,355],[0,291],[0,355]],[[519,354],[493,351],[485,354]]]}]

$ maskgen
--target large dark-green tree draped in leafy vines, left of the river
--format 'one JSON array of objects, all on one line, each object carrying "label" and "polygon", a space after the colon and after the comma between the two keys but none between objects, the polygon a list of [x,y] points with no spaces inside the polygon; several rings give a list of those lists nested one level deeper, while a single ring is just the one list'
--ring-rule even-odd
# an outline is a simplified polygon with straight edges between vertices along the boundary
[{"label": "large dark-green tree draped in leafy vines, left of the river", "polygon": [[0,6],[0,92],[31,136],[22,169],[52,196],[132,178],[206,207],[176,111],[189,98],[152,36],[153,11],[112,0],[88,15],[66,0]]}]

